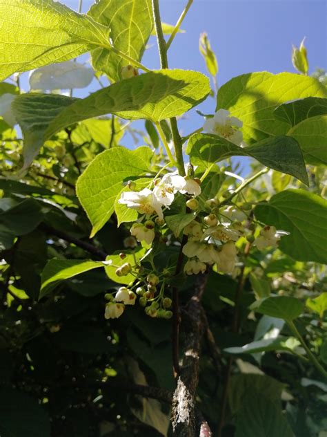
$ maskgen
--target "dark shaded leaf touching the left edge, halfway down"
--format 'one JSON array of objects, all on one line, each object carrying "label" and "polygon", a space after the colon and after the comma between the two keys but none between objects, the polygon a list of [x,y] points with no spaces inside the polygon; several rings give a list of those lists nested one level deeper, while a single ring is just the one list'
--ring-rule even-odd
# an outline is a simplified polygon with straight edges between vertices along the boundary
[{"label": "dark shaded leaf touching the left edge, halfway down", "polygon": [[32,198],[28,198],[8,210],[0,212],[0,224],[6,226],[15,235],[32,232],[41,223],[41,220],[41,207]]}]

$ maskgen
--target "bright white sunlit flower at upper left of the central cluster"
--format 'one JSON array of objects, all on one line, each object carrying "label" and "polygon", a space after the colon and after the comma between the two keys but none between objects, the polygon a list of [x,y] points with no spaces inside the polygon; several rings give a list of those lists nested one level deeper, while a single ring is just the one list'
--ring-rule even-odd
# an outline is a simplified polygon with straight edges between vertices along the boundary
[{"label": "bright white sunlit flower at upper left of the central cluster", "polygon": [[164,218],[160,203],[148,188],[141,189],[140,192],[123,192],[118,203],[132,208],[132,210],[137,210],[140,214],[152,215],[157,213],[159,218]]}]

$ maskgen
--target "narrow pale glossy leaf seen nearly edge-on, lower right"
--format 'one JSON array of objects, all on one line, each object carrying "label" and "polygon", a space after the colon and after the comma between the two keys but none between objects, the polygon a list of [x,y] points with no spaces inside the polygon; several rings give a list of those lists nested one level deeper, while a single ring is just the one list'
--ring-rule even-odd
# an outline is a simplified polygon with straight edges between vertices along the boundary
[{"label": "narrow pale glossy leaf seen nearly edge-on, lower right", "polygon": [[236,354],[269,351],[293,351],[293,349],[299,346],[299,344],[299,340],[297,340],[295,337],[277,337],[244,344],[244,346],[225,348],[224,351],[227,353]]}]

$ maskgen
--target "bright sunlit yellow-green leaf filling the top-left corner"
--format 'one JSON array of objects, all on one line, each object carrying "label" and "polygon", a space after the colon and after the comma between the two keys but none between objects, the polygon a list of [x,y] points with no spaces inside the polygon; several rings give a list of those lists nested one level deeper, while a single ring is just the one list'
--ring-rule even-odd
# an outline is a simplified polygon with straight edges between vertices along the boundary
[{"label": "bright sunlit yellow-green leaf filling the top-left corner", "polygon": [[0,81],[17,71],[110,48],[110,29],[52,0],[0,0]]}]

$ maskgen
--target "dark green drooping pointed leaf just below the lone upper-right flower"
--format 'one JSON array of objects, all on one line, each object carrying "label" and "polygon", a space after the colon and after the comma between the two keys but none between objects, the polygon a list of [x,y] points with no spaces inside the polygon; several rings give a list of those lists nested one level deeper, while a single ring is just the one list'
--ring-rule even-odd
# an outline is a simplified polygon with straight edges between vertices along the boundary
[{"label": "dark green drooping pointed leaf just below the lone upper-right flower", "polygon": [[261,164],[282,173],[290,174],[308,185],[306,166],[299,145],[293,138],[278,136],[261,140],[248,147],[238,147],[232,142],[209,133],[193,135],[186,149],[193,165],[201,169],[230,156],[251,156]]}]

